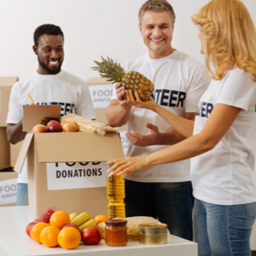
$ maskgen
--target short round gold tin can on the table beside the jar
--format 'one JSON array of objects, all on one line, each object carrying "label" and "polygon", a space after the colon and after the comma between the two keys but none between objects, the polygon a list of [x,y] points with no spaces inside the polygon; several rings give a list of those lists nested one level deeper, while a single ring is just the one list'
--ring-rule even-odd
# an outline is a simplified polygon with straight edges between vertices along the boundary
[{"label": "short round gold tin can on the table beside the jar", "polygon": [[165,244],[167,242],[167,225],[162,223],[140,224],[139,242],[147,245]]}]

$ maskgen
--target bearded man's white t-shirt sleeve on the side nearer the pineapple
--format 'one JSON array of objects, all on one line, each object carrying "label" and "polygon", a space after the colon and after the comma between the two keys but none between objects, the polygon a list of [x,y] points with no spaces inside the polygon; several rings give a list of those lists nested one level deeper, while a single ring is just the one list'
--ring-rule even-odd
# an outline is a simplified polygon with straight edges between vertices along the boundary
[{"label": "bearded man's white t-shirt sleeve on the side nearer the pineapple", "polygon": [[90,97],[90,90],[84,81],[82,81],[81,95],[77,103],[77,114],[83,116],[85,119],[96,119],[96,113]]}]

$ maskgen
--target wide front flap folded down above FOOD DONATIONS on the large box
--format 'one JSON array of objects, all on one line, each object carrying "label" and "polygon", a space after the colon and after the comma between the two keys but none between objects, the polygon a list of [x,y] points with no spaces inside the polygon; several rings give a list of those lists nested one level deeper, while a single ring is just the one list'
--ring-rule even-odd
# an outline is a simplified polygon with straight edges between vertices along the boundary
[{"label": "wide front flap folded down above FOOD DONATIONS on the large box", "polygon": [[115,132],[104,136],[96,132],[37,133],[35,139],[39,162],[108,161],[125,156]]}]

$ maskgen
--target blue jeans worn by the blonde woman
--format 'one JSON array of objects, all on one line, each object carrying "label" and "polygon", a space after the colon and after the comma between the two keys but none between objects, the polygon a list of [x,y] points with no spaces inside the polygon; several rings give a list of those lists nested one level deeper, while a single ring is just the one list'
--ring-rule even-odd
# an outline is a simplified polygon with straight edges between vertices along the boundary
[{"label": "blue jeans worn by the blonde woman", "polygon": [[251,256],[256,202],[220,206],[195,199],[194,230],[199,256]]}]

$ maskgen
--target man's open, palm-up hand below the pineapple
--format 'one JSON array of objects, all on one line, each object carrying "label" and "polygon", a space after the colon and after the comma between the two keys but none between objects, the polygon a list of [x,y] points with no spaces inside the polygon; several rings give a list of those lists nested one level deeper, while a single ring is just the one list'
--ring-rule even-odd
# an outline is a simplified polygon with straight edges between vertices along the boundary
[{"label": "man's open, palm-up hand below the pineapple", "polygon": [[127,131],[125,133],[130,143],[140,147],[147,147],[157,144],[158,138],[160,136],[158,127],[149,123],[146,123],[145,125],[149,129],[147,135],[140,134],[137,131],[132,131],[132,133]]}]

